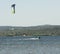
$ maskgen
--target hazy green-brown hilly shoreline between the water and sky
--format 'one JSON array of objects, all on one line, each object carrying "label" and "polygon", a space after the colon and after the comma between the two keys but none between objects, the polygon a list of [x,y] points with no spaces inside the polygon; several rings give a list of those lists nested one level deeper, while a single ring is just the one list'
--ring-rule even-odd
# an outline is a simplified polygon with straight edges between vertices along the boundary
[{"label": "hazy green-brown hilly shoreline between the water and sky", "polygon": [[60,36],[59,25],[31,27],[0,26],[0,36]]}]

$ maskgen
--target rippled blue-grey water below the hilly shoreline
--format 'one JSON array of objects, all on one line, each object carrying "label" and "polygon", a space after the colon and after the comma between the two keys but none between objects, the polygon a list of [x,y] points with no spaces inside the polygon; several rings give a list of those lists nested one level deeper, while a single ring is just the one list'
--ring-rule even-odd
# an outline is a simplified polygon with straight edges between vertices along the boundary
[{"label": "rippled blue-grey water below the hilly shoreline", "polygon": [[[32,39],[31,39],[32,38]],[[0,37],[0,54],[60,54],[60,36]]]}]

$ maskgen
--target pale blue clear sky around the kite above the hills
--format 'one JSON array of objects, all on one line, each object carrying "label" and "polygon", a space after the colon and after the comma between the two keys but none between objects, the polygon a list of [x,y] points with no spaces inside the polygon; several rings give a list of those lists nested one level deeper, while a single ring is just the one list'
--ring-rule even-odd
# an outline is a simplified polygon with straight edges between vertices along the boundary
[{"label": "pale blue clear sky around the kite above the hills", "polygon": [[[12,14],[11,5],[16,4]],[[60,0],[0,0],[0,26],[60,25]]]}]

